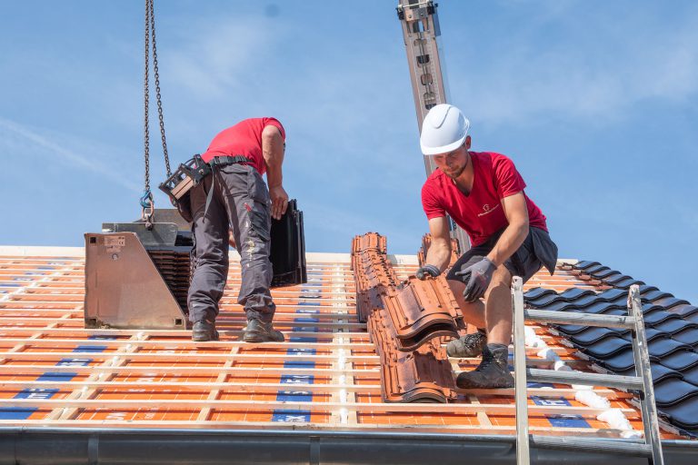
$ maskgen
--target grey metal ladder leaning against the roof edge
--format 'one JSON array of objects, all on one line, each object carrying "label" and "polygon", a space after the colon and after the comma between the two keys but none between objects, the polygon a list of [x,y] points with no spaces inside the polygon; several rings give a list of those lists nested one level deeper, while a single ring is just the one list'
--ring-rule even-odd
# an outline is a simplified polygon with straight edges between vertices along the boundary
[{"label": "grey metal ladder leaning against the roof edge", "polygon": [[[577,452],[613,452],[627,456],[647,457],[653,465],[663,465],[662,442],[659,421],[654,404],[650,356],[644,334],[643,311],[640,288],[631,286],[628,295],[628,316],[595,315],[589,313],[551,312],[523,308],[523,280],[514,276],[512,285],[514,311],[514,381],[516,406],[516,463],[531,462],[529,446],[541,449],[570,450]],[[526,368],[524,321],[582,324],[606,328],[626,328],[632,331],[635,376],[582,373],[574,371],[535,370]],[[607,440],[578,437],[555,437],[528,434],[528,381],[557,382],[606,386],[626,391],[640,391],[640,406],[643,418],[644,440]]]}]

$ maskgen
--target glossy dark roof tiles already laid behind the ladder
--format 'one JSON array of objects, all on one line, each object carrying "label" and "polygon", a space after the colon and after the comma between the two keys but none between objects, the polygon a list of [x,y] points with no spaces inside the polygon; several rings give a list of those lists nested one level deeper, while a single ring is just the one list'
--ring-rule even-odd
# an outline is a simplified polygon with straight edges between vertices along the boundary
[{"label": "glossy dark roof tiles already laid behind the ladder", "polygon": [[[536,288],[526,292],[527,305],[559,312],[624,315],[627,290],[639,284],[657,409],[676,430],[698,437],[698,307],[599,262],[564,264],[562,268],[605,290],[573,288],[557,293]],[[635,374],[629,330],[579,325],[554,328],[600,371]]]}]

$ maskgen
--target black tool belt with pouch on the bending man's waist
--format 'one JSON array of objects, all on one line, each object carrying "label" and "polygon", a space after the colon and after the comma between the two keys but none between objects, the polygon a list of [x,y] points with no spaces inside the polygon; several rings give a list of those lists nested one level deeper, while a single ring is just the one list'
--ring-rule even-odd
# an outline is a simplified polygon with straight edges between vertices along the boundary
[{"label": "black tool belt with pouch on the bending man's waist", "polygon": [[234,163],[252,163],[252,161],[243,155],[235,155],[215,156],[209,163],[205,163],[201,155],[196,153],[194,157],[181,163],[175,170],[175,173],[172,173],[165,183],[161,183],[159,188],[167,194],[170,202],[175,205],[182,218],[186,222],[192,223],[194,215],[192,214],[189,191],[195,185],[202,183],[204,178],[212,172],[214,166],[225,166]]}]

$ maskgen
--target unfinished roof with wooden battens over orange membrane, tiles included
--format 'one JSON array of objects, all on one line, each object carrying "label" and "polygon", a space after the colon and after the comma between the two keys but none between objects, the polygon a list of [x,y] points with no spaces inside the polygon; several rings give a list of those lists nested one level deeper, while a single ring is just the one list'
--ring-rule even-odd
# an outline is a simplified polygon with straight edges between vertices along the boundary
[{"label": "unfinished roof with wooden battens over orange membrane, tiles included", "polygon": [[[457,390],[454,371],[474,369],[478,359],[447,358],[447,336],[420,340],[424,328],[466,329],[458,327],[443,278],[428,284],[410,278],[418,257],[388,254],[377,234],[357,237],[352,249],[308,253],[308,282],[273,290],[274,325],[286,342],[255,345],[240,340],[245,320],[234,300],[235,258],[217,320],[221,341],[197,343],[188,331],[85,329],[83,248],[0,248],[0,424],[8,433],[0,460],[421,463],[437,450],[444,463],[462,462],[464,454],[477,462],[514,460],[514,390]],[[634,280],[604,268],[560,261],[554,276],[538,272],[526,284],[527,303],[613,313]],[[372,293],[378,285],[391,291]],[[667,463],[693,463],[698,340],[691,345],[686,338],[696,332],[690,319],[698,312],[649,286],[643,299],[664,455]],[[426,301],[441,314],[409,316],[410,306]],[[390,323],[397,314],[406,319]],[[454,326],[443,325],[449,319]],[[527,347],[529,366],[628,370],[621,366],[623,333],[529,328],[545,347]],[[632,393],[594,392],[610,405],[587,405],[569,385],[530,384],[532,433],[641,436]],[[603,421],[609,410],[628,423]],[[533,450],[540,463],[563,457],[534,444]],[[592,463],[603,455],[578,457]]]}]

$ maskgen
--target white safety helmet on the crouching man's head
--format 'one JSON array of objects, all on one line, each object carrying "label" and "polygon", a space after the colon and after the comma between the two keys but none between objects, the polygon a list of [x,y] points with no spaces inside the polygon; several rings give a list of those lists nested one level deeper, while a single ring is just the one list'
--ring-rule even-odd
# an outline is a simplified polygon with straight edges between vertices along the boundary
[{"label": "white safety helmet on the crouching man's head", "polygon": [[453,152],[463,145],[470,122],[454,105],[438,104],[424,117],[419,144],[425,155]]}]

